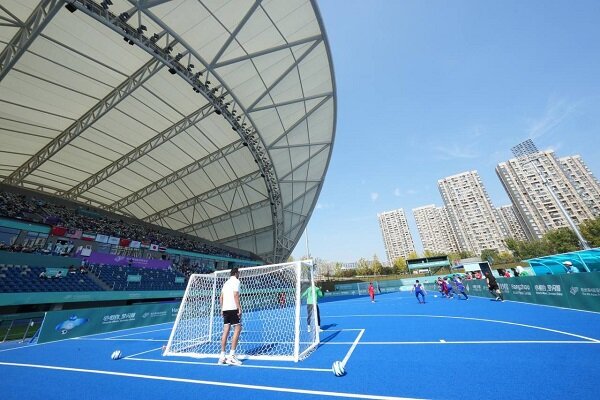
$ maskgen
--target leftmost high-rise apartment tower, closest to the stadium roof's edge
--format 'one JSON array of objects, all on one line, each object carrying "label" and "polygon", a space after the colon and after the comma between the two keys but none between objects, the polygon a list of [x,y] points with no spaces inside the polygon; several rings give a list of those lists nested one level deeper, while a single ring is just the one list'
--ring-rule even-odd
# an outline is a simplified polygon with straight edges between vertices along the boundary
[{"label": "leftmost high-rise apartment tower, closest to the stadium roof's edge", "polygon": [[377,214],[379,227],[383,236],[385,254],[392,264],[397,258],[408,258],[415,251],[415,244],[408,228],[408,221],[403,209]]}]

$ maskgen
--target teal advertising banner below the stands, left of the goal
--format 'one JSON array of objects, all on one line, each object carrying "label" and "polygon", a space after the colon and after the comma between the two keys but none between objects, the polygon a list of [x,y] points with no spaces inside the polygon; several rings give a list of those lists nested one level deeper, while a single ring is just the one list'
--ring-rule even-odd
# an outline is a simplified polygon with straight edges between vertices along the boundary
[{"label": "teal advertising banner below the stands, left of the goal", "polygon": [[49,311],[38,343],[175,321],[179,303]]}]

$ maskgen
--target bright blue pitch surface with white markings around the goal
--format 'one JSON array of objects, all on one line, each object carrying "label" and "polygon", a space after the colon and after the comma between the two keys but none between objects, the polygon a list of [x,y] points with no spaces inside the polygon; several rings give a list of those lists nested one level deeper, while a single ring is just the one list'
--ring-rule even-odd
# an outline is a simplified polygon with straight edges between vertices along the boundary
[{"label": "bright blue pitch surface with white markings around the goal", "polygon": [[[306,360],[163,357],[172,324],[0,346],[2,399],[596,399],[600,314],[409,293],[320,305]],[[124,358],[110,354],[119,349]],[[331,372],[346,361],[347,374]]]}]

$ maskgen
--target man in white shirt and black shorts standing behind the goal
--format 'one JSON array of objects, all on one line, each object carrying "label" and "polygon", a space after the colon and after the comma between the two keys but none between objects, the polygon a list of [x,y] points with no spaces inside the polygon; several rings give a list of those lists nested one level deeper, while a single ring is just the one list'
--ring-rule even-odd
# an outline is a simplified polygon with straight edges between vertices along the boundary
[{"label": "man in white shirt and black shorts standing behind the goal", "polygon": [[[240,333],[242,332],[242,306],[240,304],[240,272],[237,268],[233,268],[230,272],[230,277],[221,289],[221,312],[223,314],[223,335],[221,336],[221,355],[219,356],[218,364],[242,365],[242,362],[235,356]],[[231,348],[229,355],[225,356],[225,348],[227,347],[227,338],[229,330],[233,329],[233,337],[231,338]]]}]

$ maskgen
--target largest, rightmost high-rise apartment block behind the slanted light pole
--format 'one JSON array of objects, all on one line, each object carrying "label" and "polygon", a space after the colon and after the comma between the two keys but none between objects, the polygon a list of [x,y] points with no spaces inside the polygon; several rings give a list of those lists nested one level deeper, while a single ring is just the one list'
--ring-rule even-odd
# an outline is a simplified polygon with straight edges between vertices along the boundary
[{"label": "largest, rightmost high-rise apartment block behind the slanted light pole", "polygon": [[[594,218],[593,206],[589,205],[593,202],[593,191],[585,192],[589,193],[586,196],[588,202],[579,194],[580,191],[583,193],[586,181],[594,180],[589,170],[582,172],[582,162],[579,163],[574,158],[561,162],[550,150],[534,153],[529,160],[525,162],[514,158],[496,167],[496,174],[508,193],[529,239],[539,239],[550,230],[569,227],[547,185],[552,188],[576,224]],[[565,165],[567,169],[563,170]]]}]

